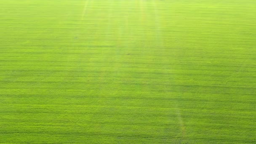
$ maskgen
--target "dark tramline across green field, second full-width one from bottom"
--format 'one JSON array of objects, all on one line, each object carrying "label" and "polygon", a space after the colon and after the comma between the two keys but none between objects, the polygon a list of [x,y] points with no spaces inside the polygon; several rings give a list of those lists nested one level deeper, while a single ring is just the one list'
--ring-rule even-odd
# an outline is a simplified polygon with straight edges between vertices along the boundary
[{"label": "dark tramline across green field, second full-width one from bottom", "polygon": [[194,128],[219,128],[219,129],[236,129],[256,131],[256,128],[243,128],[243,127],[227,127],[227,126],[214,126],[214,125],[181,125],[181,124],[168,124],[168,123],[125,123],[125,122],[93,122],[93,121],[64,121],[64,120],[1,120],[5,122],[41,122],[41,123],[91,123],[91,124],[111,124],[111,125],[157,125],[157,126],[186,126]]}]

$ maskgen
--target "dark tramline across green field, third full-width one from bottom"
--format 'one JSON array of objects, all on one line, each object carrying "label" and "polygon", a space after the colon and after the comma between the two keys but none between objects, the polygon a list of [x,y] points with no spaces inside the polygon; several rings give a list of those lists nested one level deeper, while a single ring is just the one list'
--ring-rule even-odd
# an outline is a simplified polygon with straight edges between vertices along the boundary
[{"label": "dark tramline across green field, third full-width one from bottom", "polygon": [[[145,115],[145,114],[134,114],[134,113],[108,113],[108,112],[29,112],[29,111],[0,111],[0,113],[32,113],[32,114],[79,114],[79,115],[123,115],[123,116],[136,116],[136,117],[180,117],[178,115]],[[187,116],[182,115],[183,118],[194,118],[194,119],[208,119],[208,120],[234,120],[234,121],[256,121],[254,118],[239,118],[239,117],[202,117],[202,116]]]}]

